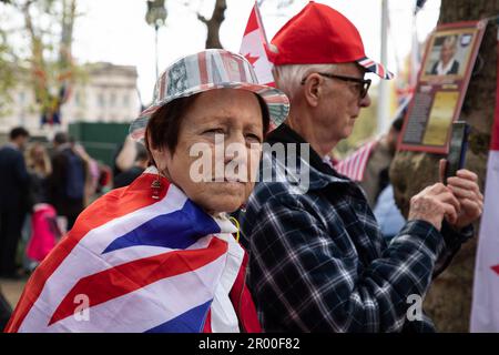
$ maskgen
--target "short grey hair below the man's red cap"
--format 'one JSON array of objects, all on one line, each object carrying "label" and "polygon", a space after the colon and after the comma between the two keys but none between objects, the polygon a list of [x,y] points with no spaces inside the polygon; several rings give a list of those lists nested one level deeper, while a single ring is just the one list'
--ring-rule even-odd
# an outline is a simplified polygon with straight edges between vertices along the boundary
[{"label": "short grey hair below the man's red cap", "polygon": [[276,87],[293,100],[302,88],[302,80],[316,72],[332,73],[336,64],[289,64],[274,67]]}]

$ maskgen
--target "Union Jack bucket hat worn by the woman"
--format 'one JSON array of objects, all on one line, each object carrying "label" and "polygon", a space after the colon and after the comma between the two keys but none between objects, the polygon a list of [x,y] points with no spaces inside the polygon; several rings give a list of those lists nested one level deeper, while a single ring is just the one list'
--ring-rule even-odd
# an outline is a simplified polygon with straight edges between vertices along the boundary
[{"label": "Union Jack bucket hat worn by the woman", "polygon": [[214,89],[241,89],[259,95],[268,108],[271,121],[277,126],[286,119],[289,100],[281,90],[258,84],[254,69],[240,54],[208,49],[184,57],[167,67],[154,87],[152,104],[130,126],[130,135],[143,140],[149,119],[173,100]]}]

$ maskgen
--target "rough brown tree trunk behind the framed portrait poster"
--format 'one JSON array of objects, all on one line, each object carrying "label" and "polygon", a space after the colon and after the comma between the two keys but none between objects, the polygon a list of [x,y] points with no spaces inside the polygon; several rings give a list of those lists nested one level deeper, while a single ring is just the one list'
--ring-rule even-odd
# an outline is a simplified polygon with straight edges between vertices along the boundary
[{"label": "rough brown tree trunk behind the framed portrait poster", "polygon": [[[499,0],[442,0],[439,23],[479,20],[499,13]],[[496,105],[497,23],[489,21],[460,119],[471,125],[466,168],[476,172],[483,189],[490,132]],[[396,201],[407,215],[410,197],[438,181],[437,154],[398,152],[391,170]],[[432,282],[425,310],[440,332],[468,332],[478,236],[464,244],[450,266]]]}]

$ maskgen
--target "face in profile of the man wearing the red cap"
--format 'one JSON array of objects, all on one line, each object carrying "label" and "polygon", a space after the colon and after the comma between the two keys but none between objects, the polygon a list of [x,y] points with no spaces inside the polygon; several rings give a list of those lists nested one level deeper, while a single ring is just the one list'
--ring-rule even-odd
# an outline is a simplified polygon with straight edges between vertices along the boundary
[{"label": "face in profile of the man wearing the red cap", "polygon": [[[338,64],[334,74],[363,79],[364,70],[355,63]],[[369,94],[360,98],[359,84],[355,82],[323,79],[324,97],[318,110],[317,128],[327,130],[330,140],[338,142],[352,134],[360,109],[370,105],[370,98]]]}]

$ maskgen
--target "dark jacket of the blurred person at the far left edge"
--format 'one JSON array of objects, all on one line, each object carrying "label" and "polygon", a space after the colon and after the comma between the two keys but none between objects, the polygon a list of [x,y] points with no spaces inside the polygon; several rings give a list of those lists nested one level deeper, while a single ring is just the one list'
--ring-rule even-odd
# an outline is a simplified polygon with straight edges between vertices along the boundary
[{"label": "dark jacket of the blurred person at the far left edge", "polygon": [[22,152],[12,144],[0,149],[0,211],[30,209],[30,178]]}]

